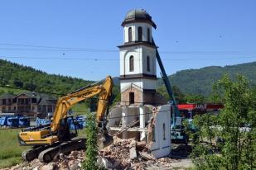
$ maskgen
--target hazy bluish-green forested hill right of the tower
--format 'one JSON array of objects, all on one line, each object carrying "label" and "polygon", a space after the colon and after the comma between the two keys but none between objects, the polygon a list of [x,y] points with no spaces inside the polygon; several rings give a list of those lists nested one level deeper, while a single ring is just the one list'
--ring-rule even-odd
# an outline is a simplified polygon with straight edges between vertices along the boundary
[{"label": "hazy bluish-green forested hill right of the tower", "polygon": [[[201,94],[207,96],[212,92],[212,84],[225,73],[234,78],[237,73],[243,74],[251,84],[256,85],[256,62],[237,64],[225,67],[211,66],[200,69],[186,69],[169,76],[171,85],[177,86],[184,94]],[[158,82],[162,85],[162,80]]]}]

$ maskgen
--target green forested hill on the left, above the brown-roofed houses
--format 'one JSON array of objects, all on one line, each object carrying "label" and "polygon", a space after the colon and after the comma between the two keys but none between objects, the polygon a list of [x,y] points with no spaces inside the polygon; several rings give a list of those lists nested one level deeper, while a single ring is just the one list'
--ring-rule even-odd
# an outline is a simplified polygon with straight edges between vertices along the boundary
[{"label": "green forested hill on the left, above the brown-roofed houses", "polygon": [[[81,78],[48,74],[35,68],[0,59],[0,85],[25,88],[31,91],[66,94],[80,87],[85,87],[89,83],[93,82]],[[0,93],[2,92],[7,92],[7,90],[0,88]]]}]

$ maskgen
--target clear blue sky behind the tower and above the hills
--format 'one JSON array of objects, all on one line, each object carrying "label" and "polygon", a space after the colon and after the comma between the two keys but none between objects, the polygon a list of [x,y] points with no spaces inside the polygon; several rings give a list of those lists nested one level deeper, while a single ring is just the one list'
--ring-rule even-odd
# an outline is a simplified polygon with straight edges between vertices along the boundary
[{"label": "clear blue sky behind the tower and above the hills", "polygon": [[118,76],[121,22],[129,10],[143,8],[157,24],[153,37],[168,74],[252,62],[255,7],[254,0],[3,0],[0,59],[89,80]]}]

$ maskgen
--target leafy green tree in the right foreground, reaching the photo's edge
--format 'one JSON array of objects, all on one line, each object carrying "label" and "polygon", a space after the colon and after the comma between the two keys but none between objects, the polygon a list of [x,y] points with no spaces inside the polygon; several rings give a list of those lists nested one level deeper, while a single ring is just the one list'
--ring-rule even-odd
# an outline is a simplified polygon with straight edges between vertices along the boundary
[{"label": "leafy green tree in the right foreground, reaching the photo's edge", "polygon": [[235,81],[225,75],[214,91],[225,108],[217,116],[198,116],[194,120],[200,138],[193,141],[193,162],[199,169],[255,169],[255,93],[241,75]]}]

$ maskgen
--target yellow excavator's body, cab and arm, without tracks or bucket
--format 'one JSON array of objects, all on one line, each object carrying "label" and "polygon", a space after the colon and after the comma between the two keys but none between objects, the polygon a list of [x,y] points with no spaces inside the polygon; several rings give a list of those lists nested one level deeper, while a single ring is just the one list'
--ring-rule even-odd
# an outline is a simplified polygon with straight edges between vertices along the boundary
[{"label": "yellow excavator's body, cab and arm, without tracks or bucket", "polygon": [[107,106],[109,105],[109,97],[111,96],[113,81],[108,76],[103,84],[83,87],[75,92],[71,92],[65,97],[60,97],[56,103],[56,109],[49,128],[28,128],[19,133],[18,139],[21,145],[46,145],[60,142],[63,139],[69,139],[69,132],[65,124],[60,122],[67,117],[67,111],[76,103],[99,95],[98,109],[96,112],[96,120],[102,120]]}]

